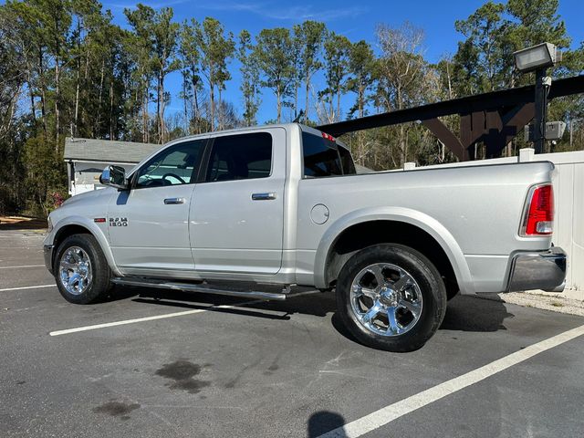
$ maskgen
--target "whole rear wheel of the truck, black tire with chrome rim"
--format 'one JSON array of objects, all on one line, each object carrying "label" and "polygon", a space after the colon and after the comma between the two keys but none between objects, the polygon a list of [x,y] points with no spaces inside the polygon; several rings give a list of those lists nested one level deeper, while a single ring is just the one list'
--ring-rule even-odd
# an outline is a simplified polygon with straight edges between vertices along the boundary
[{"label": "whole rear wheel of the truck, black tire with chrome rim", "polygon": [[446,288],[424,255],[382,244],[351,256],[337,282],[340,318],[361,343],[404,352],[421,348],[440,327]]}]

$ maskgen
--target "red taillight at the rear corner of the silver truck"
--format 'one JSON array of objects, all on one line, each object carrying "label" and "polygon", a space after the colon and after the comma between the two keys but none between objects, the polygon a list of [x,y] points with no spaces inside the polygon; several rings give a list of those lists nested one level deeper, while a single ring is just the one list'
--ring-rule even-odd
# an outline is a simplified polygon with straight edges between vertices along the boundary
[{"label": "red taillight at the rear corner of the silver truck", "polygon": [[554,230],[554,189],[551,184],[532,189],[521,235],[551,235]]}]

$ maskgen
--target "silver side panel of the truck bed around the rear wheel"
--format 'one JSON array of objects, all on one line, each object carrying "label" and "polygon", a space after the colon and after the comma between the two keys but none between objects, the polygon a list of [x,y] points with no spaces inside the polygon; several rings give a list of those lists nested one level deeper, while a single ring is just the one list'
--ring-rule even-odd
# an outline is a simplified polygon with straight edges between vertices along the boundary
[{"label": "silver side panel of the truck bed around the rear wheel", "polygon": [[[551,181],[553,168],[550,162],[528,162],[303,179],[298,183],[299,267],[315,266],[315,283],[325,287],[331,235],[393,215],[424,228],[443,245],[463,293],[503,290],[509,255],[550,245],[550,237],[524,238],[518,230],[529,187]],[[310,218],[318,203],[328,207],[326,224]]]}]

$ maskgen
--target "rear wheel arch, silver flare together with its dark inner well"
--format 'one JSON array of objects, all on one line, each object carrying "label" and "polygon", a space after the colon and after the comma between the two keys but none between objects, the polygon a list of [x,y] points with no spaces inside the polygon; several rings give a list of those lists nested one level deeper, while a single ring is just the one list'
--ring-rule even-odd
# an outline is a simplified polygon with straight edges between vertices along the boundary
[{"label": "rear wheel arch, silver flare together with its dark inner well", "polygon": [[433,217],[402,207],[359,210],[332,224],[318,245],[316,286],[331,287],[351,255],[381,243],[411,246],[427,256],[441,275],[454,280],[462,293],[474,294],[470,270],[454,236]]}]

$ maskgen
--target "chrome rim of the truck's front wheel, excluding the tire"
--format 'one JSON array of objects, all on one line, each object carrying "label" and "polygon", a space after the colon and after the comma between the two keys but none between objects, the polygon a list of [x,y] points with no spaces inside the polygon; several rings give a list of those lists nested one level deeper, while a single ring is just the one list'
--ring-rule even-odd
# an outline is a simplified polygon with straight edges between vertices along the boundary
[{"label": "chrome rim of the truck's front wheel, excluding the tire", "polygon": [[87,252],[79,246],[69,246],[59,260],[58,277],[69,294],[83,294],[92,280],[91,260]]}]

